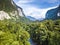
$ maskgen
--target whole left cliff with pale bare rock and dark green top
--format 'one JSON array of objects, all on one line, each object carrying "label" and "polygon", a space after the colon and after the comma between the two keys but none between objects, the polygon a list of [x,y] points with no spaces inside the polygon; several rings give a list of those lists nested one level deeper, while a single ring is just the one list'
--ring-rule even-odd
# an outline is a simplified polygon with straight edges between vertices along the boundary
[{"label": "whole left cliff with pale bare rock and dark green top", "polygon": [[24,17],[22,8],[17,6],[13,0],[0,0],[0,20],[19,19]]}]

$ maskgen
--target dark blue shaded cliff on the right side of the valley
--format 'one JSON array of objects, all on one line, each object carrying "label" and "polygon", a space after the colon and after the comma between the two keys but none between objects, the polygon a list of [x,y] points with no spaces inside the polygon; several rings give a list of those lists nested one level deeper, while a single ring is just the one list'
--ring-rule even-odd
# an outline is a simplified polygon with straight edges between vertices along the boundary
[{"label": "dark blue shaded cliff on the right side of the valley", "polygon": [[55,20],[59,18],[60,18],[60,5],[55,9],[48,10],[46,13],[46,19]]}]

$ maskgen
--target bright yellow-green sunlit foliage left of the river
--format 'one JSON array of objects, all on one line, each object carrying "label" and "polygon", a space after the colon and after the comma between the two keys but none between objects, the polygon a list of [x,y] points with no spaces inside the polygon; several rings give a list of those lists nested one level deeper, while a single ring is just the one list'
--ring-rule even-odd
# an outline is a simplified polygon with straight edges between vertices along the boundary
[{"label": "bright yellow-green sunlit foliage left of the river", "polygon": [[29,38],[19,22],[0,21],[0,45],[30,45]]}]

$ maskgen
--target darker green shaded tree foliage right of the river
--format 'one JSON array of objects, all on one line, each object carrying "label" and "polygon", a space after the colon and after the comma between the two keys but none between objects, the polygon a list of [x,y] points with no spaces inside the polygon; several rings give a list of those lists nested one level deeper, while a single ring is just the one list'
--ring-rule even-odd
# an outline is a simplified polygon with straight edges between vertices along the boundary
[{"label": "darker green shaded tree foliage right of the river", "polygon": [[26,30],[37,45],[60,45],[60,19],[31,23]]}]

